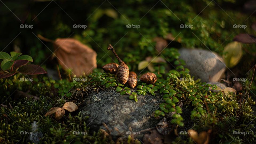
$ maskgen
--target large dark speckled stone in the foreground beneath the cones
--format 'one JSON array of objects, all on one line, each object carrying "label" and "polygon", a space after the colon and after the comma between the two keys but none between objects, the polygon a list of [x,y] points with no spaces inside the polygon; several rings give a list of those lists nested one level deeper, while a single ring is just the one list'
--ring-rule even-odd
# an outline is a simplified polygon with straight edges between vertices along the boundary
[{"label": "large dark speckled stone in the foreground beneath the cones", "polygon": [[[136,89],[131,91],[134,92]],[[137,132],[156,126],[161,119],[156,119],[154,112],[159,109],[162,102],[164,102],[162,96],[156,93],[156,96],[138,95],[136,103],[130,100],[128,95],[120,95],[115,88],[110,87],[88,95],[79,111],[83,117],[89,116],[86,125],[90,127],[90,132],[98,131],[99,128],[105,129],[102,125],[104,122],[112,130],[111,135],[117,138],[126,135],[129,127]],[[117,127],[121,135],[114,130],[114,127]]]}]

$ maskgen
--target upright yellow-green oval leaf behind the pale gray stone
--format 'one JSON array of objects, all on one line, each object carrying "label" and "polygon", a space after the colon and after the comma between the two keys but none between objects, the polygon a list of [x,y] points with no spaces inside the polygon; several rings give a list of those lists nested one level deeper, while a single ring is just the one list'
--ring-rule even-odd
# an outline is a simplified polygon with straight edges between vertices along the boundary
[{"label": "upright yellow-green oval leaf behind the pale gray stone", "polygon": [[223,59],[226,63],[227,67],[233,67],[237,65],[237,63],[242,58],[242,45],[239,42],[231,42],[227,44],[224,48],[224,53],[227,52],[226,55],[223,55]]}]

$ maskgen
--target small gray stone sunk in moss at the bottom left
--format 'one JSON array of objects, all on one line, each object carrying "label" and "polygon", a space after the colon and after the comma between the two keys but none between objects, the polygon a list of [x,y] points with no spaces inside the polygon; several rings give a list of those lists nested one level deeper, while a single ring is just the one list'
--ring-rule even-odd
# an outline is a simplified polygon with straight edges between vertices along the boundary
[{"label": "small gray stone sunk in moss at the bottom left", "polygon": [[31,131],[33,133],[31,133],[28,137],[28,140],[33,142],[33,143],[39,143],[40,142],[40,139],[43,137],[43,134],[41,131],[38,131],[38,125],[37,125],[37,122],[33,122],[32,123],[32,129]]}]

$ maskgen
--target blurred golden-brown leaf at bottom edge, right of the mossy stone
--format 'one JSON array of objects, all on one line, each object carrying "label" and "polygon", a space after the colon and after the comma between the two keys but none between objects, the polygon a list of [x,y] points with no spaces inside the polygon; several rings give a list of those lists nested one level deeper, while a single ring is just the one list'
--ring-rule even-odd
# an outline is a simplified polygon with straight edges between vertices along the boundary
[{"label": "blurred golden-brown leaf at bottom edge, right of the mossy stone", "polygon": [[197,133],[195,130],[188,130],[188,135],[191,137],[196,143],[198,144],[208,144],[210,140],[209,134],[211,133],[211,130],[202,131],[201,133]]}]

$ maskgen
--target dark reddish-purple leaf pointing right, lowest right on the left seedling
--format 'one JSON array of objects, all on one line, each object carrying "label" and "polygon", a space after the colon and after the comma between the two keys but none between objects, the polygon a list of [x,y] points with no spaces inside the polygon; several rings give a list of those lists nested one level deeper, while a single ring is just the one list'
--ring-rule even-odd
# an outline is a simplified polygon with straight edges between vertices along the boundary
[{"label": "dark reddish-purple leaf pointing right, lowest right on the left seedling", "polygon": [[38,65],[25,65],[18,70],[23,74],[46,74],[47,72]]}]

